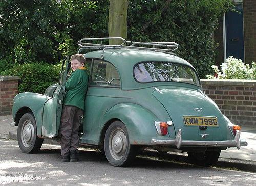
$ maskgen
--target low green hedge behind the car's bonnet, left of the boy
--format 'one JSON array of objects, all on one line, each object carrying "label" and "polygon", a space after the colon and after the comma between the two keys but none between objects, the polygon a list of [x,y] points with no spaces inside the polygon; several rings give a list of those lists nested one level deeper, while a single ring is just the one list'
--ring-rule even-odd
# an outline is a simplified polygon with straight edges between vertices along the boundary
[{"label": "low green hedge behind the car's bonnet, left of the boy", "polygon": [[58,82],[61,65],[25,63],[2,72],[1,75],[19,76],[19,92],[43,94],[49,85]]}]

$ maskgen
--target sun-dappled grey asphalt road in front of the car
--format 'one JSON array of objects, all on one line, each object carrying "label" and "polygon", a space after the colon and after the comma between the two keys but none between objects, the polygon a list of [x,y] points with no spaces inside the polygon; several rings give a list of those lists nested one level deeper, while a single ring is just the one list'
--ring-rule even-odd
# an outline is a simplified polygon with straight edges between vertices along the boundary
[{"label": "sun-dappled grey asphalt road in front of the car", "polygon": [[43,145],[24,154],[17,141],[0,140],[0,184],[6,185],[255,185],[256,173],[136,158],[113,167],[102,152],[82,150],[79,162],[62,163],[60,148]]}]

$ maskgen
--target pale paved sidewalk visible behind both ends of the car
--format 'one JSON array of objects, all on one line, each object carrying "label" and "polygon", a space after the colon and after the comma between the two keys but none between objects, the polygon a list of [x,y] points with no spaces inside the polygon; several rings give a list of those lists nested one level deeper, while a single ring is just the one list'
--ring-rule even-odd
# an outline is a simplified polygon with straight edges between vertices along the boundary
[{"label": "pale paved sidewalk visible behind both ends of the car", "polygon": [[[0,116],[0,139],[17,139],[17,126],[11,127],[10,123],[13,122],[11,115]],[[248,145],[241,146],[241,149],[228,148],[221,151],[220,159],[226,160],[246,160],[247,163],[256,166],[256,126],[255,127],[241,127],[241,139],[245,140]],[[54,140],[44,140],[44,143],[59,144]],[[220,160],[219,159],[219,160]]]}]

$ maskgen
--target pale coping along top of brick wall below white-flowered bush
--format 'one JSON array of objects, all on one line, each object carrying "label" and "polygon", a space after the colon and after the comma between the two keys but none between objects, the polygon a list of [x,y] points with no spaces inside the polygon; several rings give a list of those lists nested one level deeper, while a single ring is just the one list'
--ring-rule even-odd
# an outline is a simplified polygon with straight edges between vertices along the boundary
[{"label": "pale coping along top of brick wall below white-flowered bush", "polygon": [[256,86],[256,80],[244,79],[200,79],[202,85],[240,85]]}]

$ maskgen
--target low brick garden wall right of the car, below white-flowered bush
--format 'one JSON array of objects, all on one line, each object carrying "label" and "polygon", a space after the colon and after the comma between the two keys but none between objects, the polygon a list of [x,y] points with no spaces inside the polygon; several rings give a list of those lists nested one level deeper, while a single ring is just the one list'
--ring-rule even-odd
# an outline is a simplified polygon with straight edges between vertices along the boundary
[{"label": "low brick garden wall right of the car, below white-flowered bush", "polygon": [[201,80],[203,91],[234,124],[256,126],[256,81]]}]

